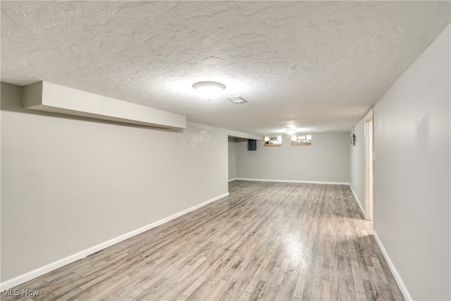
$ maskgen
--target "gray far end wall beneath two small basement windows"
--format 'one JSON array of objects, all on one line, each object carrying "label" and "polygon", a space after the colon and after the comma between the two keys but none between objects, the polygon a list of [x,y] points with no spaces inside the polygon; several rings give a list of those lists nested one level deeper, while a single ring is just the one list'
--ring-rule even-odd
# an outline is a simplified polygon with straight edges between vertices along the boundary
[{"label": "gray far end wall beneath two small basement windows", "polygon": [[282,147],[247,151],[247,141],[237,142],[237,178],[261,180],[350,181],[348,133],[312,135],[311,146],[292,147],[284,135]]}]

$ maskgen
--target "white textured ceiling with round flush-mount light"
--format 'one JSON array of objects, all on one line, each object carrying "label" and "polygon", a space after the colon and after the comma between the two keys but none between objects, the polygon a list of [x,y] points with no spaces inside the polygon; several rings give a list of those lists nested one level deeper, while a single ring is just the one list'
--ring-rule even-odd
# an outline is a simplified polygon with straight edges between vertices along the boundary
[{"label": "white textured ceiling with round flush-mount light", "polygon": [[[1,1],[1,80],[256,135],[348,132],[450,15],[450,1]],[[226,89],[203,99],[202,80]]]}]

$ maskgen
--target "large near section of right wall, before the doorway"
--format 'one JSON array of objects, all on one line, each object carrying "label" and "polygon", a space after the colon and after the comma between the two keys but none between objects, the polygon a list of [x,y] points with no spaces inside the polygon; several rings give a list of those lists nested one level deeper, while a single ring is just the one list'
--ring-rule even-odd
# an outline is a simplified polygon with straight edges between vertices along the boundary
[{"label": "large near section of right wall, before the doorway", "polygon": [[376,236],[414,300],[451,300],[450,35],[374,106]]}]

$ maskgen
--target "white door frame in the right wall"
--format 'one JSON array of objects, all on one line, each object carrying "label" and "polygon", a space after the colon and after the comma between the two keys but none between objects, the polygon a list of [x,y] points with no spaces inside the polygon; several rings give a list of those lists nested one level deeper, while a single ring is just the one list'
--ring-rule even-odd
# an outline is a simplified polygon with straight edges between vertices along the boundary
[{"label": "white door frame in the right wall", "polygon": [[373,111],[365,116],[365,219],[373,221]]}]

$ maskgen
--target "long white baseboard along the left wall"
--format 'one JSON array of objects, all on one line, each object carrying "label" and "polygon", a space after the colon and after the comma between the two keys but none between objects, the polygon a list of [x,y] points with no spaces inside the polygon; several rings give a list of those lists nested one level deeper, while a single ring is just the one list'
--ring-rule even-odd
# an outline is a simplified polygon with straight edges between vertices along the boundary
[{"label": "long white baseboard along the left wall", "polygon": [[180,212],[178,212],[176,214],[168,216],[168,217],[166,217],[164,219],[160,219],[159,221],[155,221],[154,223],[149,223],[149,225],[147,225],[147,226],[144,226],[144,227],[138,228],[138,229],[136,229],[134,231],[125,233],[123,235],[118,236],[117,238],[113,238],[111,240],[107,240],[106,242],[101,242],[101,243],[99,243],[99,245],[94,245],[93,247],[89,247],[86,250],[82,250],[82,251],[80,251],[78,253],[75,253],[75,254],[72,254],[72,255],[70,255],[70,256],[68,256],[66,258],[59,259],[56,262],[52,262],[51,264],[47,264],[45,266],[41,266],[38,269],[29,271],[29,272],[27,272],[25,274],[22,274],[20,276],[11,278],[11,279],[9,279],[7,281],[4,281],[4,282],[0,283],[0,290],[1,291],[8,290],[8,289],[13,288],[13,287],[15,287],[17,285],[20,285],[20,284],[25,283],[27,281],[30,281],[30,280],[32,280],[34,278],[37,278],[37,277],[42,276],[44,274],[47,274],[47,273],[49,273],[51,271],[59,269],[59,268],[61,268],[61,266],[66,266],[67,264],[70,264],[70,263],[75,262],[75,261],[77,261],[79,259],[85,258],[85,257],[89,256],[90,254],[94,254],[95,252],[99,252],[100,250],[104,250],[107,247],[111,247],[112,245],[116,245],[116,243],[118,243],[118,242],[122,242],[123,240],[127,240],[128,238],[132,238],[135,235],[141,234],[141,233],[143,233],[145,231],[148,231],[148,230],[150,230],[152,228],[155,228],[156,226],[160,226],[163,223],[167,223],[168,221],[172,221],[173,219],[176,219],[179,216],[183,216],[184,214],[187,214],[187,213],[189,213],[191,211],[199,209],[200,207],[204,207],[206,204],[210,204],[212,202],[215,202],[218,199],[222,199],[223,197],[227,197],[228,195],[229,195],[228,192],[224,193],[223,195],[218,195],[217,197],[209,199],[206,202],[203,202],[201,204],[197,204],[197,205],[195,205],[193,207],[190,207],[190,208],[185,209],[183,211],[180,211]]}]

